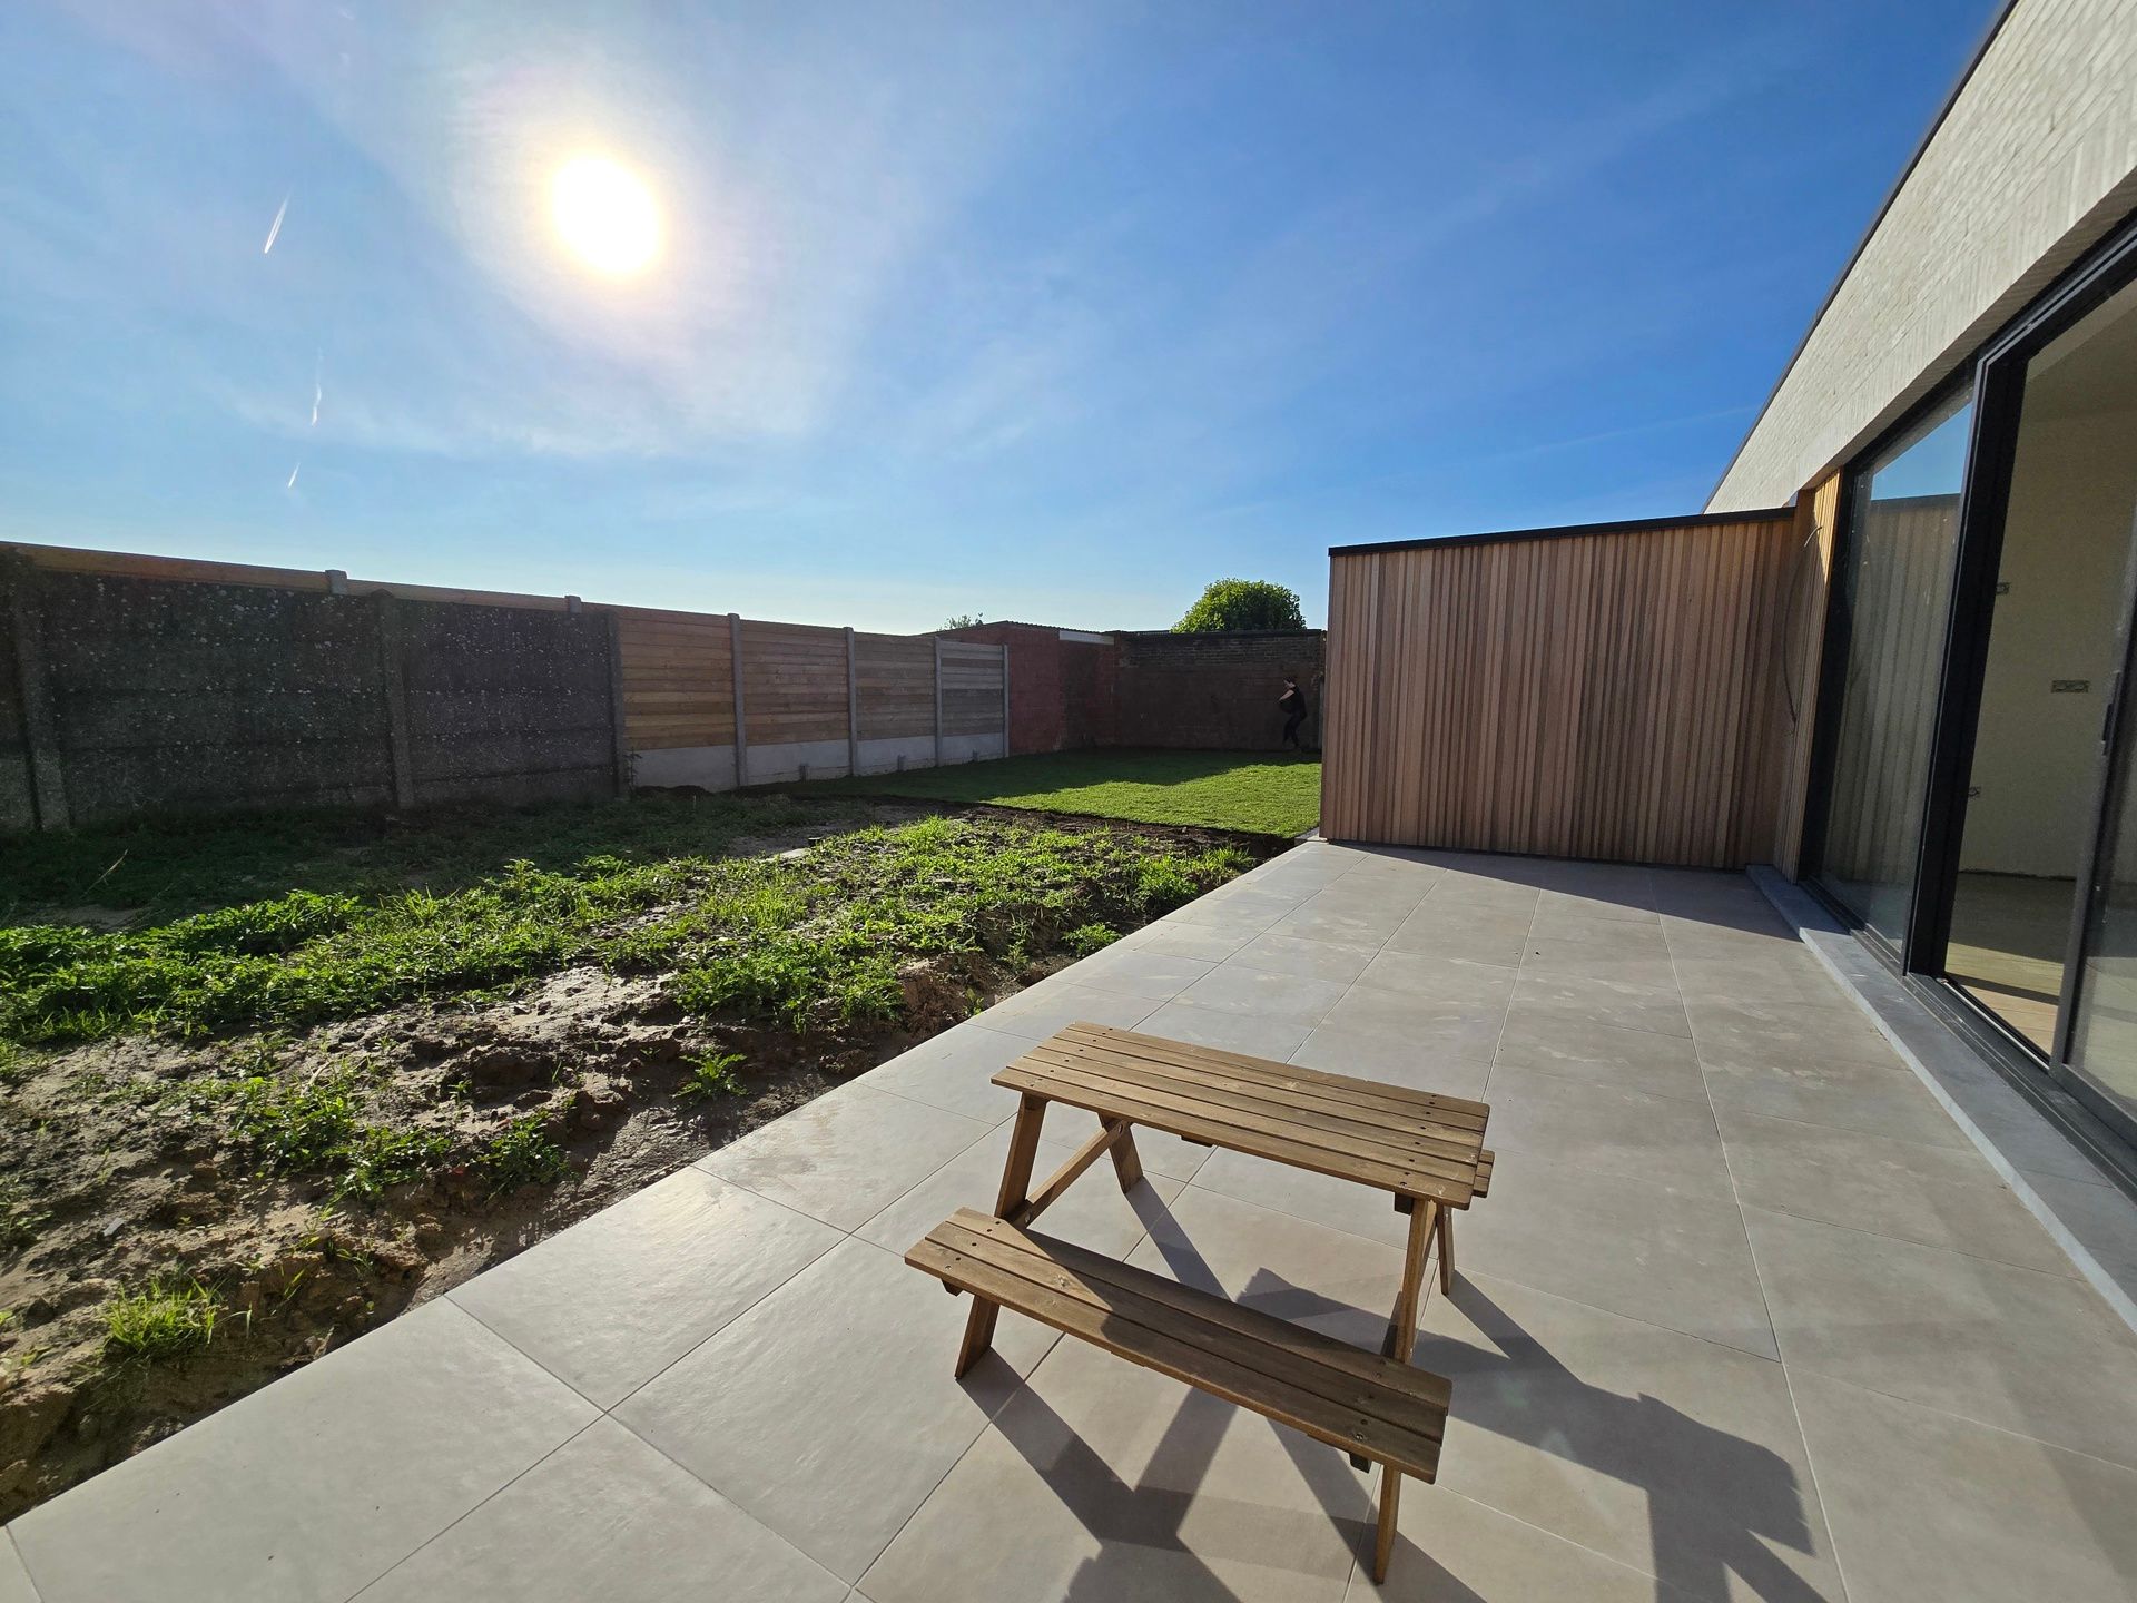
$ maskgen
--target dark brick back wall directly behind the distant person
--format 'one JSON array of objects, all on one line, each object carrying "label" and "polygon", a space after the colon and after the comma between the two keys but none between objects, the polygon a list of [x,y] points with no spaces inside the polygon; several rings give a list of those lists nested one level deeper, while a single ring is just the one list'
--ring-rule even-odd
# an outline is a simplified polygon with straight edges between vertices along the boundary
[{"label": "dark brick back wall directly behind the distant person", "polygon": [[1122,746],[1276,750],[1284,716],[1276,697],[1293,675],[1312,705],[1306,737],[1319,744],[1319,628],[1239,635],[1118,635]]}]

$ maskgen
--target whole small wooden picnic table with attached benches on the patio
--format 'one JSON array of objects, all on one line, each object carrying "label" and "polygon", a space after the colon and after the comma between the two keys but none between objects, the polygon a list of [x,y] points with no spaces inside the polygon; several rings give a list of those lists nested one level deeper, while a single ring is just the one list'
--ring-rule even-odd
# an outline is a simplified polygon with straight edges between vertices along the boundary
[{"label": "whole small wooden picnic table with attached benches on the patio", "polygon": [[[994,1214],[962,1210],[906,1261],[972,1293],[957,1374],[989,1349],[1000,1308],[1252,1406],[1381,1464],[1374,1575],[1387,1575],[1402,1475],[1434,1479],[1451,1387],[1408,1366],[1432,1242],[1453,1289],[1453,1210],[1483,1197],[1489,1107],[1105,1024],[1071,1024],[998,1075],[1019,1094]],[[1098,1118],[1098,1133],[1032,1190],[1047,1107]],[[1101,1154],[1120,1186],[1141,1178],[1135,1126],[1197,1146],[1353,1180],[1391,1195],[1410,1227],[1381,1353],[1338,1342],[1028,1231]]]}]

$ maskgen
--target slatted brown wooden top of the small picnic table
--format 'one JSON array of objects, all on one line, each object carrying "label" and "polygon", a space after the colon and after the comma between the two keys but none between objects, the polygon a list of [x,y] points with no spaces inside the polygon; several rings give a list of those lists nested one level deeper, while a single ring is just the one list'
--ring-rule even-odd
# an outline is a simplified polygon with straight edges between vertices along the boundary
[{"label": "slatted brown wooden top of the small picnic table", "polygon": [[1485,1103],[1329,1075],[1107,1024],[1068,1024],[996,1086],[1398,1197],[1468,1208]]}]

